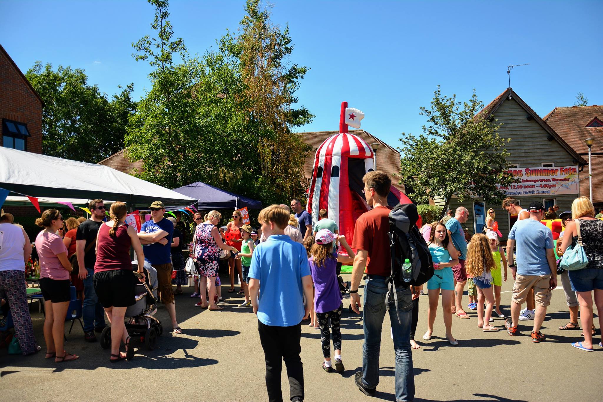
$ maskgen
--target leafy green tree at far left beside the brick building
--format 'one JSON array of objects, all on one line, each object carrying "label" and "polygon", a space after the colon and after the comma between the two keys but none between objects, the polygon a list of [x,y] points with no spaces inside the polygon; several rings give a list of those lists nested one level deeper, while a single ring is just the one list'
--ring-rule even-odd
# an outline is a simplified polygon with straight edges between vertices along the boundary
[{"label": "leafy green tree at far left beside the brick building", "polygon": [[133,84],[109,100],[96,85],[88,84],[82,69],[54,70],[51,64],[36,61],[25,76],[44,102],[44,154],[96,163],[123,148],[128,119],[136,109]]}]

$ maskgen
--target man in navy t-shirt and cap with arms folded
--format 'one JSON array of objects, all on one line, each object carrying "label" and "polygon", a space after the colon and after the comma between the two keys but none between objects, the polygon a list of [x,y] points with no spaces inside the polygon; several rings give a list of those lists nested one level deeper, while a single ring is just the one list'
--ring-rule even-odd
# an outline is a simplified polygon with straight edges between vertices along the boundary
[{"label": "man in navy t-shirt and cap with arms folded", "polygon": [[176,304],[174,291],[172,291],[172,256],[170,252],[174,224],[163,217],[165,207],[161,201],[155,201],[149,209],[153,219],[142,224],[138,238],[142,243],[145,260],[157,270],[161,301],[165,304],[169,318],[172,320],[174,334],[179,334],[182,333],[182,330],[178,327],[176,321]]}]

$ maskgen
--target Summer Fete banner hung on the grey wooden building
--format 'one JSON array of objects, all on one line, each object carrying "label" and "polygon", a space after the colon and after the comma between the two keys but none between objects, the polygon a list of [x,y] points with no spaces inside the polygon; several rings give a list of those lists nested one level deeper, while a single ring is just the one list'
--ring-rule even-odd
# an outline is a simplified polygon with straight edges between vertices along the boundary
[{"label": "Summer Fete banner hung on the grey wooden building", "polygon": [[496,187],[507,196],[577,194],[578,166],[555,166],[555,168],[513,168],[508,172],[519,179],[519,183],[508,187]]}]

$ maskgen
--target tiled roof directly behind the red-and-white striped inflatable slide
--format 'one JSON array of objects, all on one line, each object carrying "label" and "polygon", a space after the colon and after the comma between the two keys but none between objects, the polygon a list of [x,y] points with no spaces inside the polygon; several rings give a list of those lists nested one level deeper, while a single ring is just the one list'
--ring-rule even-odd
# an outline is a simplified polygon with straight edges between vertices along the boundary
[{"label": "tiled roof directly behind the red-and-white striped inflatable slide", "polygon": [[[309,133],[299,133],[303,136],[303,140],[305,143],[311,146],[311,150],[308,153],[308,157],[306,158],[306,162],[304,163],[304,175],[306,179],[312,178],[312,168],[314,167],[314,158],[316,156],[316,150],[330,136],[335,134],[339,134],[339,131],[312,131]],[[383,142],[377,137],[373,136],[373,134],[367,133],[364,130],[350,130],[350,134],[355,134],[361,139],[365,140],[368,145],[372,143],[378,143],[379,148],[377,148],[377,170],[382,171],[390,175],[391,182],[399,189],[401,192],[405,192],[404,186],[398,184],[400,174],[400,152],[397,151],[391,145]]]}]

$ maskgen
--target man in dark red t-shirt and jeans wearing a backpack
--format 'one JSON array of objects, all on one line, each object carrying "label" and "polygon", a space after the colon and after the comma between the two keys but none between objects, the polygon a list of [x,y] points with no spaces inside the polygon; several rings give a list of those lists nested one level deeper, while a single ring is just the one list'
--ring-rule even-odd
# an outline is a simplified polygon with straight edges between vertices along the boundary
[{"label": "man in dark red t-shirt and jeans wearing a backpack", "polygon": [[410,344],[411,289],[408,286],[396,288],[397,312],[393,295],[385,300],[386,279],[391,275],[390,238],[388,236],[390,207],[387,204],[391,180],[385,173],[368,172],[362,181],[364,182],[362,192],[364,192],[368,205],[373,209],[363,213],[356,221],[352,242],[352,248],[358,250],[354,259],[352,286],[350,287],[352,310],[360,313],[358,287],[364,272],[367,274],[364,285],[364,305],[368,306],[364,309],[363,319],[362,371],[356,372],[356,386],[364,394],[372,396],[379,384],[381,327],[387,303],[390,306],[390,321],[396,351],[396,400],[412,401],[414,399],[414,374]]}]

